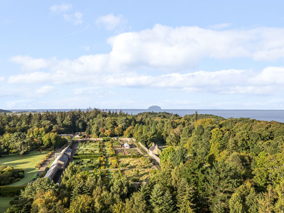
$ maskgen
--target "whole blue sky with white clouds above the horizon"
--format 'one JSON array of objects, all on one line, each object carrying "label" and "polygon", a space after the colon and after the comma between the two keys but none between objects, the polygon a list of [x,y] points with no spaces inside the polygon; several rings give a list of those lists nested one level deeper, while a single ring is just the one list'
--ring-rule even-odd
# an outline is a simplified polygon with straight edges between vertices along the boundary
[{"label": "whole blue sky with white clouds above the horizon", "polygon": [[0,109],[284,109],[284,1],[0,1]]}]

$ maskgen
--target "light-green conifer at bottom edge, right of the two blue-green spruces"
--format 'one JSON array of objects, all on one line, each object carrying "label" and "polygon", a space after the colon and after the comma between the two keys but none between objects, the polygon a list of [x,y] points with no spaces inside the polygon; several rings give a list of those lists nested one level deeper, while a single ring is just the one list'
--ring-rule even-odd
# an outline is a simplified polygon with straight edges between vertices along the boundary
[{"label": "light-green conifer at bottom edge, right of the two blue-green spruces", "polygon": [[193,189],[189,187],[184,178],[181,179],[180,185],[177,189],[177,207],[180,213],[192,213],[194,212],[192,206],[192,193]]}]

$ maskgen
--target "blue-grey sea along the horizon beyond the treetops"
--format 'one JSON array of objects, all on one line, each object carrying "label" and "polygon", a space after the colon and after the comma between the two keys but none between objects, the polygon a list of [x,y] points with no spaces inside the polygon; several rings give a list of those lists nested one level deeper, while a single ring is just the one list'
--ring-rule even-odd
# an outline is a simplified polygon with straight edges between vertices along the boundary
[{"label": "blue-grey sea along the horizon beyond the treetops", "polygon": [[[70,111],[71,109],[9,109],[10,111]],[[75,110],[75,109],[72,109]],[[86,111],[87,109],[81,109],[81,111]],[[106,110],[106,109],[104,109]],[[119,111],[120,109],[107,109],[111,111]],[[257,120],[267,120],[267,121],[278,121],[284,123],[284,110],[255,110],[255,109],[121,109],[129,114],[138,114],[141,112],[168,112],[173,114],[178,114],[180,116],[194,114],[198,111],[199,114],[212,114],[216,116],[221,116],[223,118],[251,118]]]}]

